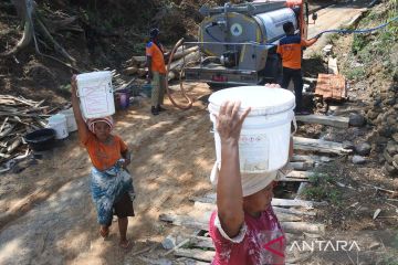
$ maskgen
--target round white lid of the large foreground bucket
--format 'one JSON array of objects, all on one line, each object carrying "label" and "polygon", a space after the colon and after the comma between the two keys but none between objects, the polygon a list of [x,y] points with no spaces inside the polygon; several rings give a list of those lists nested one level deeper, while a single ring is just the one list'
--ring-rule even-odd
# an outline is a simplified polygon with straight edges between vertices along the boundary
[{"label": "round white lid of the large foreground bucket", "polygon": [[218,114],[224,102],[241,102],[240,112],[251,107],[249,116],[263,116],[291,110],[295,107],[294,94],[283,88],[266,86],[238,86],[213,93],[209,97],[209,112]]}]

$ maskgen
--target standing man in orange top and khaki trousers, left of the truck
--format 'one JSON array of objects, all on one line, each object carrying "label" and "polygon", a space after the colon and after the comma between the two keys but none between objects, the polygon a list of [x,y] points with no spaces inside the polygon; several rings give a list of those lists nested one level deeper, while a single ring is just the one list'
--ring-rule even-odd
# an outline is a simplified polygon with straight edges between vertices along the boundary
[{"label": "standing man in orange top and khaki trousers, left of the truck", "polygon": [[166,110],[161,107],[166,89],[166,65],[164,47],[160,44],[159,29],[151,29],[150,40],[146,45],[146,56],[148,66],[148,82],[151,82],[151,107],[153,115],[159,115],[159,112]]}]

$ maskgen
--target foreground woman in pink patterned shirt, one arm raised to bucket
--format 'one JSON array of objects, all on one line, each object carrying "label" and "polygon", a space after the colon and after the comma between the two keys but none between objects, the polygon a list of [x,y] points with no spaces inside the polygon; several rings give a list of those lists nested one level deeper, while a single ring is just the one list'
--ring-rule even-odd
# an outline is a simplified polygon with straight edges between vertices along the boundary
[{"label": "foreground woman in pink patterned shirt, one arm raised to bucket", "polygon": [[[251,183],[241,176],[240,137],[250,112],[250,107],[242,110],[240,102],[224,102],[216,115],[221,161],[211,176],[217,184],[218,209],[209,224],[216,246],[213,265],[284,264],[285,261],[285,236],[271,206],[276,171],[263,173]],[[292,142],[287,148],[291,156]]]}]

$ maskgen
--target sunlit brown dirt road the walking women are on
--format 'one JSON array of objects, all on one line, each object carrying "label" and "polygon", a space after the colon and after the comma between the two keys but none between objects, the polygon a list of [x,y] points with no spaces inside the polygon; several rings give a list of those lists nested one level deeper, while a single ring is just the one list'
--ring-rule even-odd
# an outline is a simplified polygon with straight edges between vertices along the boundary
[{"label": "sunlit brown dirt road the walking women are on", "polygon": [[[349,21],[359,9],[347,6],[320,11],[310,35],[338,28],[345,22],[342,17]],[[198,99],[210,91],[198,84],[190,94]],[[128,226],[134,242],[130,252],[117,246],[115,224],[108,241],[100,239],[88,193],[91,165],[74,134],[24,171],[0,176],[0,264],[146,264],[134,253],[170,232],[158,215],[188,212],[189,197],[211,190],[208,176],[214,150],[206,105],[197,100],[188,112],[169,103],[167,107],[168,112],[153,117],[148,100],[143,100],[116,117],[115,132],[134,153],[129,169],[138,194],[137,216]]]}]

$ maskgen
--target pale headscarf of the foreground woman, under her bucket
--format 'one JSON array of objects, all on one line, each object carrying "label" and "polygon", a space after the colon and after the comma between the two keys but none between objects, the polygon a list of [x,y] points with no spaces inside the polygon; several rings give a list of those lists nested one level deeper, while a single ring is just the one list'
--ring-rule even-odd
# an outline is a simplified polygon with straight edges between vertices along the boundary
[{"label": "pale headscarf of the foreground woman, under her bucket", "polygon": [[[217,186],[220,166],[220,162],[216,162],[211,170],[210,181],[213,186]],[[276,173],[277,171],[265,173],[241,173],[243,197],[254,194],[271,184],[276,179]]]}]

